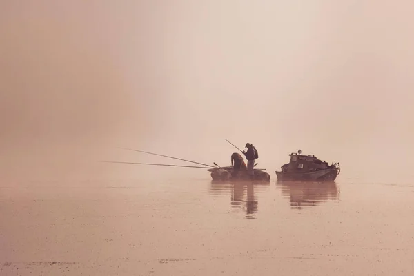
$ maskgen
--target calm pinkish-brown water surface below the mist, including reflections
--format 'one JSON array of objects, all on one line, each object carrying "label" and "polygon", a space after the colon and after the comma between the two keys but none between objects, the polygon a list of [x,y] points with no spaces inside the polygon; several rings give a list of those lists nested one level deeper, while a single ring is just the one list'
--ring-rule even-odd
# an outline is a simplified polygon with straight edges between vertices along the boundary
[{"label": "calm pinkish-brown water surface below the mist, including reflections", "polygon": [[0,188],[0,275],[413,275],[414,186],[192,180]]}]

